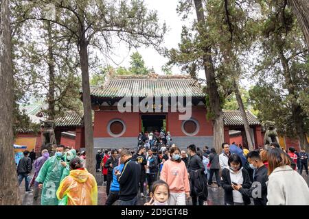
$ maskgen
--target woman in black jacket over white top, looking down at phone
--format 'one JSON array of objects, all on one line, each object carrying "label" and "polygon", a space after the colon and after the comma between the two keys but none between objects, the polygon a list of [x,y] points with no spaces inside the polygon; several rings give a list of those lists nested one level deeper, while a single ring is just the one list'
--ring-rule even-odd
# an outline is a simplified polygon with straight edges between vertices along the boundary
[{"label": "woman in black jacket over white top, looking down at phone", "polygon": [[226,205],[249,205],[250,198],[233,189],[233,185],[242,185],[244,189],[251,187],[247,170],[242,168],[242,161],[236,154],[229,156],[228,165],[228,168],[222,170],[222,188],[225,190]]}]

